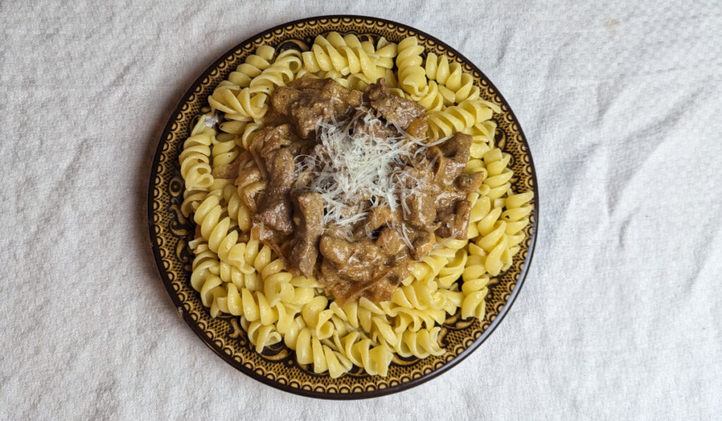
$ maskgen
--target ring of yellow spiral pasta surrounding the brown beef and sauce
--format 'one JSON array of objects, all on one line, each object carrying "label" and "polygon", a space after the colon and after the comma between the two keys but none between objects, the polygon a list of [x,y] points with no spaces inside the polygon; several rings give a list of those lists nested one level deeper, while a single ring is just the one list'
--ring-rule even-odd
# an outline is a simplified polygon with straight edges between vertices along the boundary
[{"label": "ring of yellow spiral pasta surrounding the brown beef and sauce", "polygon": [[[482,177],[466,198],[466,238],[437,238],[388,301],[361,297],[339,305],[315,277],[287,270],[279,255],[288,243],[271,248],[252,232],[258,198],[273,188],[256,137],[269,121],[273,92],[300,77],[360,91],[383,78],[393,95],[426,110],[427,142],[471,136],[464,172]],[[191,287],[211,316],[238,316],[257,352],[282,343],[314,373],[336,378],[357,366],[386,376],[394,355],[443,355],[447,316],[486,317],[490,285],[526,238],[533,194],[512,191],[511,155],[495,145],[492,117],[500,108],[482,99],[460,64],[425,54],[414,37],[396,44],[329,32],[309,51],[262,45],[216,87],[209,105],[217,115],[201,116],[179,156],[186,182],[181,212],[196,223]]]}]

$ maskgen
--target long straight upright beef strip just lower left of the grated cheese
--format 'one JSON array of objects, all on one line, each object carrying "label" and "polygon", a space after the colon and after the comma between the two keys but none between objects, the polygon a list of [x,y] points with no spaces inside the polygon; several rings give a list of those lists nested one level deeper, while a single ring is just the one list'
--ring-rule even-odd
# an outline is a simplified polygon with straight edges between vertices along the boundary
[{"label": "long straight upright beef strip just lower left of the grated cheese", "polygon": [[318,193],[292,191],[293,240],[288,259],[305,277],[313,276],[318,239],[323,233],[323,199]]}]

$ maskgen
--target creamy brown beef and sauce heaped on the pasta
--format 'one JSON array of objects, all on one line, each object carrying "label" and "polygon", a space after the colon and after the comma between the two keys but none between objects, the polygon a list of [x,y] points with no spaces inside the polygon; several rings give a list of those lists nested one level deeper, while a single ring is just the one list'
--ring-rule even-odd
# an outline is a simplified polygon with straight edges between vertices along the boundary
[{"label": "creamy brown beef and sauce heaped on the pasta", "polygon": [[[438,145],[419,147],[427,131],[424,108],[391,95],[383,79],[365,92],[347,90],[331,79],[298,79],[279,87],[271,104],[268,126],[249,150],[258,168],[238,169],[238,184],[266,181],[258,194],[242,196],[253,212],[251,233],[287,261],[290,270],[316,276],[340,304],[360,297],[390,299],[412,259],[427,256],[437,236],[466,236],[466,196],[483,181],[482,173],[464,173],[471,136],[455,134]],[[410,145],[404,146],[406,155],[384,164],[397,176],[396,196],[368,189],[342,192],[339,200],[349,203],[338,209],[327,203],[333,179],[320,185],[315,177],[323,169],[314,165],[326,153],[322,127],[339,122],[351,122],[344,126],[349,139],[366,135],[377,144]],[[351,222],[338,222],[344,218]]]}]

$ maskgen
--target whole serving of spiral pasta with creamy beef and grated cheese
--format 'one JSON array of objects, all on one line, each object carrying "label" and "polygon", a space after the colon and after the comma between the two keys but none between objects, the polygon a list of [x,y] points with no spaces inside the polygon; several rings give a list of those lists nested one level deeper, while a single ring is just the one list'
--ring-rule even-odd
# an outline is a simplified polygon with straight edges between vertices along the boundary
[{"label": "whole serving of spiral pasta with creamy beef and grated cheese", "polygon": [[500,110],[460,65],[331,32],[259,47],[209,105],[180,155],[191,285],[256,351],[386,376],[394,355],[443,354],[448,316],[484,317],[532,193],[511,190]]}]

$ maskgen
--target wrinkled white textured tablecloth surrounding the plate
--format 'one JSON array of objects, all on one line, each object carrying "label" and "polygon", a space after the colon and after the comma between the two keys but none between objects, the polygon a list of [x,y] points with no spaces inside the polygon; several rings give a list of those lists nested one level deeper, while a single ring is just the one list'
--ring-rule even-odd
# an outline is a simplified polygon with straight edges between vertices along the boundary
[{"label": "wrinkled white textured tablecloth surrounding the plate", "polygon": [[[101,4],[103,4],[101,6]],[[178,318],[147,237],[162,126],[218,56],[321,14],[404,22],[529,137],[539,241],[467,360],[379,399],[271,389]],[[709,1],[0,1],[0,419],[722,413],[722,9]]]}]

